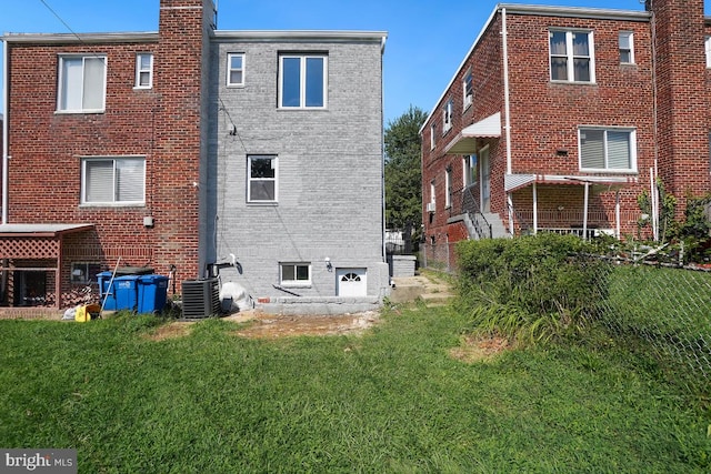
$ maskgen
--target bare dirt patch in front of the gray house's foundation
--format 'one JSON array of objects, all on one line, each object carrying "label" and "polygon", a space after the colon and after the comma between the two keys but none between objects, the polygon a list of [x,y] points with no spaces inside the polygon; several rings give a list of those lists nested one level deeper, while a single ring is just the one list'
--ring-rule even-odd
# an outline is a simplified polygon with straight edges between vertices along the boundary
[{"label": "bare dirt patch in front of the gray house's foundation", "polygon": [[378,312],[286,316],[254,313],[252,323],[236,331],[242,337],[277,339],[299,335],[359,334],[379,319]]}]

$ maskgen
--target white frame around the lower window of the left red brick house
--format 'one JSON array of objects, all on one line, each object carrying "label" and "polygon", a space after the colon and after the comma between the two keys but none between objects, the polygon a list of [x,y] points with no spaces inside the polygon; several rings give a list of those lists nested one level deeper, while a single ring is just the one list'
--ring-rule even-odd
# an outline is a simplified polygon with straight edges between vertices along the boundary
[{"label": "white frame around the lower window of the left red brick house", "polygon": [[[111,185],[112,185],[112,198],[111,199],[94,199],[92,194],[92,190],[90,185],[88,185],[88,170],[87,165],[89,163],[111,163]],[[121,165],[126,165],[131,163],[133,165],[140,165],[141,177],[140,182],[129,182],[129,185],[138,186],[138,192],[134,194],[140,194],[140,199],[132,200],[121,200],[118,195],[120,192],[120,172]],[[97,188],[108,189],[108,183],[97,183]],[[146,204],[146,157],[143,155],[121,155],[121,157],[81,157],[81,205],[144,205]]]}]

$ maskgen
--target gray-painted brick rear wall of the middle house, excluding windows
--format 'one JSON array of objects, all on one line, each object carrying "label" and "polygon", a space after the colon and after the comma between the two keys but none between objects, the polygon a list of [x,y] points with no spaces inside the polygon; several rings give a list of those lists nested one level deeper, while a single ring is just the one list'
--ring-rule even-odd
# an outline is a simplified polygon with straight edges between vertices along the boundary
[{"label": "gray-painted brick rear wall of the middle house, excluding windows", "polygon": [[[226,85],[228,53],[244,53],[244,85]],[[280,52],[328,54],[328,108],[280,110]],[[382,67],[377,40],[218,38],[211,51],[213,137],[208,174],[209,260],[257,299],[289,296],[280,262],[311,264],[301,296],[337,294],[337,271],[367,269],[368,295],[382,296]],[[230,134],[234,124],[237,134]],[[247,157],[278,157],[278,203],[247,203]],[[324,260],[329,258],[329,271]],[[384,266],[384,272],[383,272]]]}]

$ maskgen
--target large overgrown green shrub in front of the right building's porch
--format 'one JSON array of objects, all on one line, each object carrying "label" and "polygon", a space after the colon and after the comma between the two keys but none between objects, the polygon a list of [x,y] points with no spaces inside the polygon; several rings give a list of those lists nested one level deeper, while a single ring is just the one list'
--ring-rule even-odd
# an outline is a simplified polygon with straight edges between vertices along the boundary
[{"label": "large overgrown green shrub in front of the right building's porch", "polygon": [[509,339],[535,342],[580,331],[607,286],[609,265],[584,256],[592,249],[553,233],[461,242],[461,303],[475,327]]}]

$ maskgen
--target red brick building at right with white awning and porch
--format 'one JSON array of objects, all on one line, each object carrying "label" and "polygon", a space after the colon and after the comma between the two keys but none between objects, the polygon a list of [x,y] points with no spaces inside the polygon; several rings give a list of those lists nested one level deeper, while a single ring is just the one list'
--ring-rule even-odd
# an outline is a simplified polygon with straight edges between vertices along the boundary
[{"label": "red brick building at right with white awning and porch", "polygon": [[[425,258],[539,230],[652,236],[638,196],[711,190],[702,0],[499,4],[421,129]],[[704,54],[707,44],[707,54]]]}]

